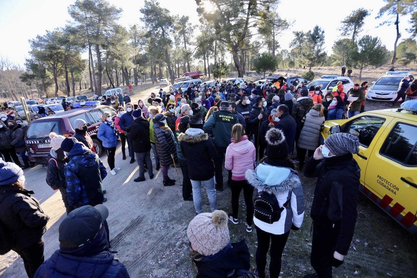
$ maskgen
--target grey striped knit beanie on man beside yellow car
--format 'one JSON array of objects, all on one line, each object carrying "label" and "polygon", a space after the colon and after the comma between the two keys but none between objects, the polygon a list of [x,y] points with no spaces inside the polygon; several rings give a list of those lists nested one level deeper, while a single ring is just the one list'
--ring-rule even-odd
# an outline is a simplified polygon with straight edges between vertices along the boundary
[{"label": "grey striped knit beanie on man beside yellow car", "polygon": [[359,152],[359,139],[349,133],[332,134],[324,140],[324,144],[334,155]]}]

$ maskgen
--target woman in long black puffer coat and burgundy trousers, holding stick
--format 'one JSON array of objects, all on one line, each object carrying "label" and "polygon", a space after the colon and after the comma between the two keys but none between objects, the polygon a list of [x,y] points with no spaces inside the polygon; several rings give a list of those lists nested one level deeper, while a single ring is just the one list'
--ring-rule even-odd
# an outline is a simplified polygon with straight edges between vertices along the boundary
[{"label": "woman in long black puffer coat and burgundy trousers, holding stick", "polygon": [[[153,118],[153,137],[155,138],[156,153],[162,166],[163,185],[171,186],[175,180],[168,177],[169,165],[177,159],[174,135],[166,125],[166,116],[161,113]],[[172,156],[171,156],[172,155]]]}]

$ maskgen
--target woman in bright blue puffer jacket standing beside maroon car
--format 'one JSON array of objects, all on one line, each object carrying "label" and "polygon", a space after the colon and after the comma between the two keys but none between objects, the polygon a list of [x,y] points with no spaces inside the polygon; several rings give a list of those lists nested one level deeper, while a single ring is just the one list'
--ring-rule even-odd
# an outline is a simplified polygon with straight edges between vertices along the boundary
[{"label": "woman in bright blue puffer jacket standing beside maroon car", "polygon": [[116,171],[120,170],[119,167],[114,166],[114,155],[116,154],[116,145],[117,140],[119,139],[119,133],[114,125],[110,113],[104,113],[101,117],[101,122],[102,123],[98,127],[97,137],[101,140],[103,147],[107,151],[107,162],[110,166],[110,173],[112,175],[116,175]]}]

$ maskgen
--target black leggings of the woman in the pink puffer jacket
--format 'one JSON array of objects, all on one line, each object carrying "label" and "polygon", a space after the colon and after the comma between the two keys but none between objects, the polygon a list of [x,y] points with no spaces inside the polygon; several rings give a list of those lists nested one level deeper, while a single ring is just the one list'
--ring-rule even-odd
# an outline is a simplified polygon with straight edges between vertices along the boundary
[{"label": "black leggings of the woman in the pink puffer jacket", "polygon": [[252,201],[252,195],[254,194],[254,188],[248,184],[246,180],[232,180],[231,181],[231,206],[233,217],[238,218],[239,212],[239,195],[243,189],[243,197],[246,204],[246,223],[252,225],[254,218],[254,203]]}]

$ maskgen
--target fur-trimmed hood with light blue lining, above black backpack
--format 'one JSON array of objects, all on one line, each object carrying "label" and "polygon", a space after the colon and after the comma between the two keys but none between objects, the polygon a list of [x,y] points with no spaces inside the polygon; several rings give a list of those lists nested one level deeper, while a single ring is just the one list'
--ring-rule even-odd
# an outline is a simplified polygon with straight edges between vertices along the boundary
[{"label": "fur-trimmed hood with light blue lining, above black backpack", "polygon": [[[262,169],[260,169],[260,167]],[[269,183],[268,179],[271,178],[271,175],[280,176],[280,178],[275,179],[277,184],[266,184]],[[261,179],[266,180],[263,182]],[[246,170],[246,180],[258,191],[265,191],[266,193],[274,195],[301,187],[300,178],[295,170],[285,167],[276,167],[267,163],[259,164],[255,170]]]}]

